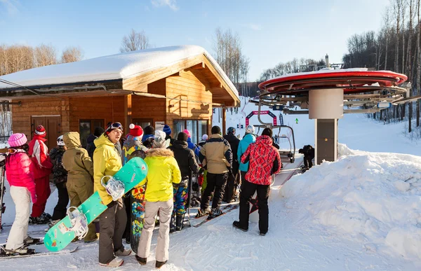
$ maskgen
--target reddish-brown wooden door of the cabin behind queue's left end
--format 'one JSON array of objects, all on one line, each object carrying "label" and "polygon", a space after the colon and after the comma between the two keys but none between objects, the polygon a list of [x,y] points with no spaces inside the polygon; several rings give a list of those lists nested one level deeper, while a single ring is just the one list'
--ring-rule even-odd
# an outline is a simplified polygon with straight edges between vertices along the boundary
[{"label": "reddish-brown wooden door of the cabin behind queue's left end", "polygon": [[57,138],[60,137],[61,133],[60,124],[60,116],[32,116],[31,139],[36,127],[38,127],[38,125],[43,125],[46,129],[46,145],[48,146],[48,151],[50,151],[51,148],[55,148],[55,146],[57,146]]}]

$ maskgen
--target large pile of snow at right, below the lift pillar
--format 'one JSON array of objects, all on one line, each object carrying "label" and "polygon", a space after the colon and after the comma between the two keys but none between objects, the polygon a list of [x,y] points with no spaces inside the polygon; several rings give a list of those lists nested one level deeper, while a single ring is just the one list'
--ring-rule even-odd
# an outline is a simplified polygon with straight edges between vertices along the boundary
[{"label": "large pile of snow at right, below the lift pillar", "polygon": [[338,149],[338,162],[323,162],[281,188],[283,207],[368,251],[420,260],[421,157]]}]

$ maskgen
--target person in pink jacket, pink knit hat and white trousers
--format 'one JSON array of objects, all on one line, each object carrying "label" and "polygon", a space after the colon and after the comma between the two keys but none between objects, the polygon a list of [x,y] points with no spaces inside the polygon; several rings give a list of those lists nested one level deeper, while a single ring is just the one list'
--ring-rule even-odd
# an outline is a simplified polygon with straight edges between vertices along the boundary
[{"label": "person in pink jacket, pink knit hat and white trousers", "polygon": [[16,216],[9,232],[6,253],[30,253],[27,245],[36,242],[28,236],[29,211],[32,202],[36,203],[34,174],[30,171],[32,160],[26,151],[25,134],[12,134],[8,139],[11,148],[6,157],[6,178],[11,185],[11,196],[15,203]]}]

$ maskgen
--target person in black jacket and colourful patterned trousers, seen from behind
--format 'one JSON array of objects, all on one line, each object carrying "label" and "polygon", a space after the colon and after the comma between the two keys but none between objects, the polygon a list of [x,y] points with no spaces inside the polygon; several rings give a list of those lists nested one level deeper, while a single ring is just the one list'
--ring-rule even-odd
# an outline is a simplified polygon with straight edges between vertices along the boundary
[{"label": "person in black jacket and colourful patterned trousers, seen from behind", "polygon": [[173,151],[174,158],[177,160],[181,172],[181,182],[178,186],[174,186],[174,209],[173,216],[171,216],[170,232],[182,229],[182,221],[186,214],[186,204],[190,190],[189,179],[192,178],[192,172],[197,174],[200,169],[194,152],[188,148],[187,138],[185,132],[180,132],[177,140],[173,142],[172,146],[168,147]]}]

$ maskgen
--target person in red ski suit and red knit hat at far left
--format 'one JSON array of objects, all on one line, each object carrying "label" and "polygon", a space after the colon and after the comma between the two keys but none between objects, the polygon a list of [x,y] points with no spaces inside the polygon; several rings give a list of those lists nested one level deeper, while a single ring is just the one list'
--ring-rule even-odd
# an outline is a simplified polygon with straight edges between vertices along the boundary
[{"label": "person in red ski suit and red knit hat at far left", "polygon": [[32,205],[29,223],[45,224],[51,221],[51,215],[44,213],[47,199],[50,196],[50,174],[53,164],[48,155],[44,126],[36,127],[34,137],[29,142],[28,155],[32,159],[31,172],[34,174],[37,201]]}]

